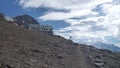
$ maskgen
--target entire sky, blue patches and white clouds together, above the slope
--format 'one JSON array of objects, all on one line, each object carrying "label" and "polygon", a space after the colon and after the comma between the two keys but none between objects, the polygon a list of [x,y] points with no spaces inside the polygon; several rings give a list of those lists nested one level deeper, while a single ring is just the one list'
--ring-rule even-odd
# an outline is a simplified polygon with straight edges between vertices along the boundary
[{"label": "entire sky, blue patches and white clouds together, above the slope", "polygon": [[120,0],[2,0],[0,12],[11,17],[29,14],[78,43],[120,47]]}]

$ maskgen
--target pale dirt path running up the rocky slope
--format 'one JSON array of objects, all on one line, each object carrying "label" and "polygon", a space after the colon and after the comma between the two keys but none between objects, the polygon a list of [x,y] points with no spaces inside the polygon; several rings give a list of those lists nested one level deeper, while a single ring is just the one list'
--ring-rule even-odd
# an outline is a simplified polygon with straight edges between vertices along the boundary
[{"label": "pale dirt path running up the rocky slope", "polygon": [[87,59],[84,56],[81,47],[76,46],[75,52],[73,54],[72,66],[71,68],[89,68],[87,65]]}]

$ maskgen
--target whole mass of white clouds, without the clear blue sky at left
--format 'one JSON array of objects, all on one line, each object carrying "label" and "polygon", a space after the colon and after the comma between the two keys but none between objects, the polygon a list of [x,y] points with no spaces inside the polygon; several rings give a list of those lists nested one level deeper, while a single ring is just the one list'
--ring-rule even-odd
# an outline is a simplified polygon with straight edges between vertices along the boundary
[{"label": "whole mass of white clouds, without the clear blue sky at left", "polygon": [[[55,34],[81,43],[120,41],[120,0],[20,0],[23,8],[53,8],[38,17],[43,21],[62,20],[70,26],[54,30]],[[101,9],[96,9],[99,6]],[[101,14],[101,12],[104,14]],[[82,18],[84,17],[84,18]],[[107,39],[112,37],[114,39]],[[120,46],[119,42],[115,42]]]}]

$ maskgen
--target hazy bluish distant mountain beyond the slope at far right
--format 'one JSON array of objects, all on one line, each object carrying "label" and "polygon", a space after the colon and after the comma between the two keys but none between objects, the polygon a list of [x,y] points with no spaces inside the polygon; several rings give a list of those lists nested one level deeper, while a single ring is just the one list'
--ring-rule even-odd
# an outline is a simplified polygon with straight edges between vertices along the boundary
[{"label": "hazy bluish distant mountain beyond the slope at far right", "polygon": [[107,50],[111,50],[113,52],[120,52],[120,48],[115,46],[114,44],[97,42],[97,43],[93,44],[93,46],[96,48],[99,48],[99,49],[107,49]]}]

